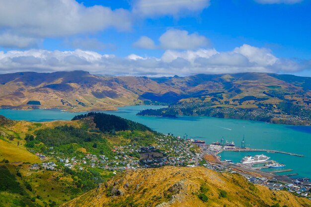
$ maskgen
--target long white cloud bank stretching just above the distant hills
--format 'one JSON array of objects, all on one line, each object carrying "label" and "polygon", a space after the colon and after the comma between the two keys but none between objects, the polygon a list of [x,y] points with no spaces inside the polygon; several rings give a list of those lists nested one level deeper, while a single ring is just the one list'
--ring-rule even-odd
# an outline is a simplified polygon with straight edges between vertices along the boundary
[{"label": "long white cloud bank stretching just above the distant hills", "polygon": [[167,50],[160,59],[131,54],[125,58],[92,51],[27,50],[0,52],[0,73],[87,70],[95,74],[171,76],[197,73],[297,72],[311,62],[275,57],[268,49],[242,45],[228,52],[215,49]]}]

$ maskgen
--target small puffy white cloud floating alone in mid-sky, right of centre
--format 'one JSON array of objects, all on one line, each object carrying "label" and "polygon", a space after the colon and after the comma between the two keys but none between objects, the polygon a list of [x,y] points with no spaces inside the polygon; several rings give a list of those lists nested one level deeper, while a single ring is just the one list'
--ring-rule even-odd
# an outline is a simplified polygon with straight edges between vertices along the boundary
[{"label": "small puffy white cloud floating alone in mid-sky, right of centre", "polygon": [[164,49],[164,50],[193,50],[206,47],[209,40],[197,33],[189,34],[186,30],[170,29],[159,37],[159,45],[149,37],[143,36],[133,44],[134,47],[144,49]]}]

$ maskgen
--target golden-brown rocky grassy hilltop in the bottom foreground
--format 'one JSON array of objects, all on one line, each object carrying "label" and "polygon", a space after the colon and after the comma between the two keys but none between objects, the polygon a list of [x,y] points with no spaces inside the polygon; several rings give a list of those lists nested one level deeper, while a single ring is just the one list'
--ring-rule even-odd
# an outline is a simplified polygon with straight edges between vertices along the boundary
[{"label": "golden-brown rocky grassy hilltop in the bottom foreground", "polygon": [[[198,198],[203,191],[209,198]],[[128,187],[126,187],[128,186]],[[107,196],[111,189],[119,189],[124,195]],[[227,197],[220,197],[220,191]],[[311,201],[295,197],[286,191],[271,191],[254,186],[237,174],[220,174],[203,167],[163,167],[127,171],[111,179],[106,187],[90,191],[62,207],[269,207],[279,203],[282,207],[310,207]]]}]

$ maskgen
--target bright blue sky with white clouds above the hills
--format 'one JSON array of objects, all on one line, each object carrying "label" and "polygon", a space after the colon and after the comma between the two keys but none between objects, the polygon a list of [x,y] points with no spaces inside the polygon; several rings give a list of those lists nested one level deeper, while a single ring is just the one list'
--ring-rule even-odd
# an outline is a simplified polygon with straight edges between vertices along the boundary
[{"label": "bright blue sky with white clouds above the hills", "polygon": [[0,73],[311,76],[311,0],[0,0]]}]

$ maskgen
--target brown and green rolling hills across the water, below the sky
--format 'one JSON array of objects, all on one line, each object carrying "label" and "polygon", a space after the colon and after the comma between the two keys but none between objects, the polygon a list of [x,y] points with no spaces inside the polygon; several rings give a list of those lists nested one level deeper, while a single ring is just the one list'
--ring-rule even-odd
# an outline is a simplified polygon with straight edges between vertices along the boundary
[{"label": "brown and green rolling hills across the water, below the sky", "polygon": [[[96,111],[151,103],[173,105],[175,115],[311,123],[310,77],[236,73],[149,78],[104,77],[85,71],[19,72],[1,74],[0,83],[0,108]],[[242,115],[229,116],[226,110]],[[255,118],[258,113],[267,116]]]}]

